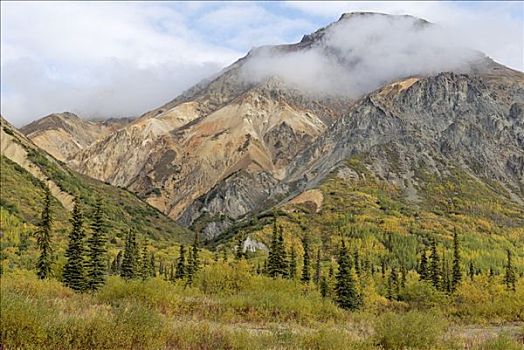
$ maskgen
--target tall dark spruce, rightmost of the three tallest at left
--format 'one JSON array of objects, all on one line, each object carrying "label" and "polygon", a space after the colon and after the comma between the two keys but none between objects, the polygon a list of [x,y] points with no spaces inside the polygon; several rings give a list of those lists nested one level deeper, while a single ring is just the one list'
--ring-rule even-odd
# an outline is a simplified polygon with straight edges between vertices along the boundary
[{"label": "tall dark spruce, rightmost of the three tallest at left", "polygon": [[97,200],[93,222],[91,223],[91,237],[87,240],[87,280],[90,290],[98,290],[106,282],[106,227],[102,210],[102,203]]}]

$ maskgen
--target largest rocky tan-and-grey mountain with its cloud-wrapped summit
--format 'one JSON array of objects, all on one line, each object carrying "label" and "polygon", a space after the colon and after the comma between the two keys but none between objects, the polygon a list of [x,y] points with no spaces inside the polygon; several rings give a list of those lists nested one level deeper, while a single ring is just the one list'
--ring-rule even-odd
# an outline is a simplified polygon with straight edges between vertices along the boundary
[{"label": "largest rocky tan-and-grey mountain with its cloud-wrapped summit", "polygon": [[[81,149],[73,169],[214,238],[360,155],[415,204],[452,169],[522,202],[523,74],[372,13],[260,47]],[[132,151],[130,151],[132,150]]]}]

